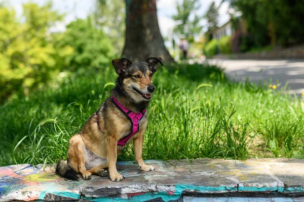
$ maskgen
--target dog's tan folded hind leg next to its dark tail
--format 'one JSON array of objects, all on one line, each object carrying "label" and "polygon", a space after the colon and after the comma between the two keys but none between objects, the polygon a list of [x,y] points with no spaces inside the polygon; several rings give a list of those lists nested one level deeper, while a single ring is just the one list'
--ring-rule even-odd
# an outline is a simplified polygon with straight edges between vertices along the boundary
[{"label": "dog's tan folded hind leg next to its dark tail", "polygon": [[76,172],[80,172],[85,180],[92,178],[92,173],[86,169],[85,143],[77,134],[70,138],[67,151],[67,164]]}]

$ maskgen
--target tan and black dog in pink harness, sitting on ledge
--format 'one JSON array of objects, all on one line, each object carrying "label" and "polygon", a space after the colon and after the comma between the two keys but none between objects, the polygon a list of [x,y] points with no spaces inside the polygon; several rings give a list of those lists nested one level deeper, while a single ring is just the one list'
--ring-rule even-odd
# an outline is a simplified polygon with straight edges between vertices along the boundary
[{"label": "tan and black dog in pink harness, sitting on ledge", "polygon": [[131,141],[139,168],[155,170],[143,162],[142,144],[147,126],[146,108],[155,91],[152,79],[158,64],[164,66],[162,59],[155,57],[139,63],[125,58],[112,60],[118,74],[112,96],[70,138],[67,160],[58,162],[57,175],[71,180],[109,176],[111,181],[121,181],[125,178],[117,171],[117,155]]}]

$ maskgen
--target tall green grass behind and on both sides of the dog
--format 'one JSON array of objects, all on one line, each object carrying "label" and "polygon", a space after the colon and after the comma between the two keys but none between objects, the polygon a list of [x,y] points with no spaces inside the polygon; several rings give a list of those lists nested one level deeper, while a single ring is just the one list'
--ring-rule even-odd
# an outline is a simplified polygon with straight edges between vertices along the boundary
[{"label": "tall green grass behind and on both sides of the dog", "polygon": [[[0,165],[56,163],[68,139],[110,95],[112,67],[80,70],[0,107]],[[160,68],[149,106],[144,159],[304,158],[303,99],[209,65]],[[14,153],[13,153],[14,151]],[[120,160],[133,160],[132,144]]]}]

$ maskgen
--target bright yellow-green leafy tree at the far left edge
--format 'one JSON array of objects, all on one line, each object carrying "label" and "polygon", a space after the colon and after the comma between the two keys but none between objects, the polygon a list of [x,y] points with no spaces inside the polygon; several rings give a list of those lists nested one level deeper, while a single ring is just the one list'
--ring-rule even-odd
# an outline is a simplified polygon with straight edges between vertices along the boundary
[{"label": "bright yellow-green leafy tree at the far left edge", "polygon": [[0,8],[0,103],[21,91],[42,87],[60,67],[48,28],[62,20],[51,4],[23,5],[22,21],[12,9]]}]

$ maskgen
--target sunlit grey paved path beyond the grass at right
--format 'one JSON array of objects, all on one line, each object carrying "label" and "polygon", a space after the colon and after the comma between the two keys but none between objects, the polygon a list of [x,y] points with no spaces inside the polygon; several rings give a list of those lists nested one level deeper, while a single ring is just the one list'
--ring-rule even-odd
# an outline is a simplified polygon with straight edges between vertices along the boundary
[{"label": "sunlit grey paved path beyond the grass at right", "polygon": [[290,93],[304,93],[304,59],[303,60],[207,60],[225,69],[225,73],[237,81],[259,83],[263,80],[271,84],[279,82],[279,88],[288,83]]}]

